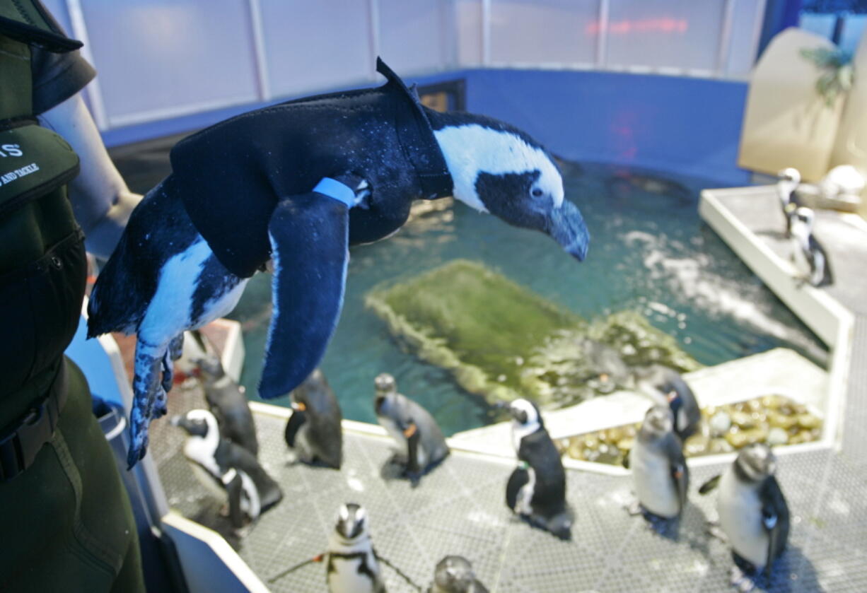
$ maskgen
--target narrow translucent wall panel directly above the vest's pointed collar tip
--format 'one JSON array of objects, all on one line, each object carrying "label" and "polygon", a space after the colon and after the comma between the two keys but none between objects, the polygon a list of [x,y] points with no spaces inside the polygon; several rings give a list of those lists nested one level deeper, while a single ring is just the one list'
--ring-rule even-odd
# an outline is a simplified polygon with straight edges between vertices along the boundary
[{"label": "narrow translucent wall panel directly above the vest's pointed collar tip", "polygon": [[380,54],[400,75],[445,68],[453,61],[453,5],[440,0],[374,0]]}]

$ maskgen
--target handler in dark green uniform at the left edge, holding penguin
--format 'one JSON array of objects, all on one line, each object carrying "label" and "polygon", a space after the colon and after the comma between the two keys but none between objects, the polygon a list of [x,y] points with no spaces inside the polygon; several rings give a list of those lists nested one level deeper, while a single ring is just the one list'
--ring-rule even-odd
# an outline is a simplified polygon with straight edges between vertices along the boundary
[{"label": "handler in dark green uniform at the left edge, holding penguin", "polygon": [[80,46],[37,0],[0,0],[3,591],[145,590],[127,493],[88,383],[63,355],[85,241],[108,257],[139,198],[78,95],[95,75]]}]

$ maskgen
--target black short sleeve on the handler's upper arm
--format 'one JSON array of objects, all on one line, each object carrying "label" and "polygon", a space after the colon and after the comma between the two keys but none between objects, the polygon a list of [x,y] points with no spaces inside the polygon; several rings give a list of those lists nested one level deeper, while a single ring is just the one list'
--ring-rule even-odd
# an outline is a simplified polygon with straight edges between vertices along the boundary
[{"label": "black short sleeve on the handler's upper arm", "polygon": [[[43,10],[48,15],[48,10]],[[55,29],[63,29],[52,18]],[[77,50],[55,54],[47,49],[30,46],[33,57],[33,113],[48,111],[84,88],[96,75],[96,70]]]}]

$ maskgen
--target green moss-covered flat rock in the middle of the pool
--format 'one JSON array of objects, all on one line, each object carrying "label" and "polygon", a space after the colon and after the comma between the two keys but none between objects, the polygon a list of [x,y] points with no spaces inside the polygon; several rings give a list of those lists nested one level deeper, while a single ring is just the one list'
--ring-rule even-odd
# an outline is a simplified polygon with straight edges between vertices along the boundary
[{"label": "green moss-covered flat rock in the middle of the pool", "polygon": [[551,408],[595,395],[587,378],[597,371],[578,342],[586,336],[600,336],[629,360],[649,355],[643,364],[699,366],[637,313],[588,324],[484,265],[461,259],[375,288],[366,303],[422,360],[447,368],[460,387],[490,403],[530,397]]}]

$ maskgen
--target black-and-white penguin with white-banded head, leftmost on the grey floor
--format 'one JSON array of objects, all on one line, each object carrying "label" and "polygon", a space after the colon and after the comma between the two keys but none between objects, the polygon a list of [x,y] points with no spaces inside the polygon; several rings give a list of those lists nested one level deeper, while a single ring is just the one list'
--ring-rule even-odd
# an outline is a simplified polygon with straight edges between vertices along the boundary
[{"label": "black-and-white penguin with white-banded head, leftmost on the grey floor", "polygon": [[252,453],[221,437],[217,419],[207,410],[175,416],[172,424],[187,433],[184,456],[203,485],[219,499],[228,498],[235,529],[255,521],[277,505],[283,492]]}]

